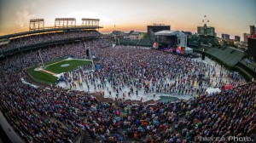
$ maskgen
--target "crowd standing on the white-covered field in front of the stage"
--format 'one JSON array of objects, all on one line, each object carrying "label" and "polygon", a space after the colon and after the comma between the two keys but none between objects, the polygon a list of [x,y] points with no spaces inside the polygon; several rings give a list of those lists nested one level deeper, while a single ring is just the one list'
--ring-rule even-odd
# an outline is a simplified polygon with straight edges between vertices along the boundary
[{"label": "crowd standing on the white-covered field in front of the stage", "polygon": [[123,95],[129,99],[131,94],[138,95],[140,91],[145,95],[201,95],[206,93],[208,87],[221,89],[224,84],[238,86],[244,83],[239,76],[233,78],[230,72],[222,70],[217,73],[216,65],[142,47],[92,49],[92,54],[101,54],[101,62],[96,63],[100,69],[90,73],[86,72],[87,68],[81,67],[68,72],[63,79],[69,89],[85,83],[88,91],[90,88],[103,90],[109,96],[122,99]]}]

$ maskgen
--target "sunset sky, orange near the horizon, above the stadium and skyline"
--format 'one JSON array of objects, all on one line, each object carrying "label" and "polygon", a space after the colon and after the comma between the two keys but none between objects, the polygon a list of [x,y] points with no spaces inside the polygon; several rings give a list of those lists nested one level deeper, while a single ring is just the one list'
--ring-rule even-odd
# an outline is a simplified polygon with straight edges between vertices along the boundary
[{"label": "sunset sky, orange near the horizon, above the stadium and skyline", "polygon": [[67,17],[76,18],[77,25],[82,18],[98,18],[102,33],[147,31],[153,23],[196,32],[207,15],[207,26],[215,27],[218,37],[243,38],[256,26],[255,6],[255,0],[0,0],[0,35],[28,31],[30,19],[54,26],[55,18]]}]

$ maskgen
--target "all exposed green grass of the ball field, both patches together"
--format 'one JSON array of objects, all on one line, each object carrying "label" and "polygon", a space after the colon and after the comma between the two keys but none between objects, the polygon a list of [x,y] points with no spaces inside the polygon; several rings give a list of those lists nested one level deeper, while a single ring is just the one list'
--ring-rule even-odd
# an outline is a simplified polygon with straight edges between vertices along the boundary
[{"label": "all exposed green grass of the ball field, both patches together", "polygon": [[[50,64],[52,64],[52,65],[50,65]],[[63,64],[69,64],[69,66],[61,67],[61,65],[63,65]],[[73,69],[75,69],[78,66],[84,66],[87,64],[90,64],[90,61],[88,61],[88,60],[64,60],[64,59],[59,59],[59,60],[54,60],[54,61],[44,63],[44,65],[46,66],[45,70],[47,70],[49,72],[54,72],[54,73],[72,71]],[[35,82],[45,83],[45,84],[55,84],[58,77],[55,77],[46,72],[34,71],[35,68],[37,68],[37,66],[32,66],[32,67],[26,69],[26,72],[30,75],[30,77],[32,77],[32,79]]]}]

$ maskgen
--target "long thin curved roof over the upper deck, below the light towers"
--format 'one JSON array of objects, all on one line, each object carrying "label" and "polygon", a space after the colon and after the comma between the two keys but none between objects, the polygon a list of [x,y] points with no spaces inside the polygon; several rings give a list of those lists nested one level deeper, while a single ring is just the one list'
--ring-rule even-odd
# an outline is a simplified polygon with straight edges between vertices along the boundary
[{"label": "long thin curved roof over the upper deck, below the light towers", "polygon": [[49,32],[49,31],[91,30],[91,29],[98,29],[98,28],[103,28],[103,27],[102,26],[73,26],[73,27],[61,27],[61,28],[49,27],[49,28],[45,28],[45,29],[37,30],[37,31],[22,31],[22,32],[14,33],[14,34],[3,35],[3,36],[0,36],[0,39],[10,38],[10,37],[20,37],[23,35],[36,34],[36,33],[41,33],[41,32]]}]

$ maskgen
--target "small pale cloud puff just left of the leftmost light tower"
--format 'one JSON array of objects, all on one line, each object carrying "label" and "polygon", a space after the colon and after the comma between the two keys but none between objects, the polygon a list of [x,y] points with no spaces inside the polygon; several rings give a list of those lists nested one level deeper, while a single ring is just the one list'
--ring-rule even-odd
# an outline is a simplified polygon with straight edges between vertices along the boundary
[{"label": "small pale cloud puff just left of the leftmost light tower", "polygon": [[35,17],[34,14],[30,14],[26,8],[21,9],[16,13],[17,20],[15,23],[20,26],[20,28],[25,28],[29,25],[29,20]]}]

